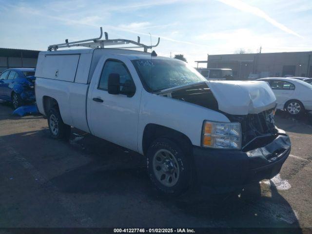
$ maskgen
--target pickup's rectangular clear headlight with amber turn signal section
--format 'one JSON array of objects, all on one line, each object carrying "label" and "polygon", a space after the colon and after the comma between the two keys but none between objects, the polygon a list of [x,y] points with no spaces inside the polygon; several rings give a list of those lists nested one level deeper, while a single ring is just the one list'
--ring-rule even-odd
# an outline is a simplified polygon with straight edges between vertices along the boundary
[{"label": "pickup's rectangular clear headlight with amber turn signal section", "polygon": [[240,123],[204,121],[201,142],[203,147],[240,149],[241,139]]}]

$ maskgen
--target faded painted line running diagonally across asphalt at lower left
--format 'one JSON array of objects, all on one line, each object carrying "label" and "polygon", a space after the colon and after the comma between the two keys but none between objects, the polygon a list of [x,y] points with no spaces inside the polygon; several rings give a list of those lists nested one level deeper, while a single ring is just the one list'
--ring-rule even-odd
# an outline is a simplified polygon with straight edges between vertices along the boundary
[{"label": "faded painted line running diagonally across asphalt at lower left", "polygon": [[20,155],[13,147],[9,146],[7,142],[0,138],[0,143],[3,149],[7,151],[10,155],[14,156],[15,160],[20,163],[20,165],[25,168],[40,185],[45,188],[52,190],[59,198],[59,203],[63,206],[73,217],[75,217],[81,226],[83,227],[94,227],[94,222],[92,218],[84,214],[78,206],[76,206],[68,197],[62,195],[59,189],[49,180],[47,180],[42,174],[30,163],[26,158]]}]

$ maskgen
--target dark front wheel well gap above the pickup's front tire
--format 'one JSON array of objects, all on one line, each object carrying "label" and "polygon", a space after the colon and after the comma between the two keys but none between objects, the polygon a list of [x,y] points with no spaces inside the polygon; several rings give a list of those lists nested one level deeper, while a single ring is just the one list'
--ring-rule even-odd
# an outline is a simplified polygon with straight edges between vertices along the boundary
[{"label": "dark front wheel well gap above the pickup's front tire", "polygon": [[184,151],[191,150],[192,142],[189,137],[183,133],[178,132],[172,128],[150,123],[145,126],[143,132],[142,149],[144,155],[146,155],[147,149],[153,143],[153,141],[159,137],[166,137],[171,139]]}]

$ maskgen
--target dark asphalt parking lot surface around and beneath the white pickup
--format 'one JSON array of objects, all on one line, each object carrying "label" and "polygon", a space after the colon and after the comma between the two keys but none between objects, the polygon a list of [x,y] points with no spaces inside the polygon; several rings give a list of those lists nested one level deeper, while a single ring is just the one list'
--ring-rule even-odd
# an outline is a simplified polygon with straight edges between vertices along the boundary
[{"label": "dark asphalt parking lot surface around and beneath the white pickup", "polygon": [[[231,194],[160,196],[144,156],[0,103],[0,227],[312,227],[312,120],[283,112],[292,152],[271,181]],[[302,230],[304,233],[304,230]]]}]

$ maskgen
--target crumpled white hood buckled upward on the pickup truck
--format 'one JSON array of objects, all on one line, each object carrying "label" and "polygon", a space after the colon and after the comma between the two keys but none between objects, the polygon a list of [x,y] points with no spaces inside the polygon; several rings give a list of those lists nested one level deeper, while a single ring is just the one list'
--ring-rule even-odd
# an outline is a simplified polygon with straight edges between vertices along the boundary
[{"label": "crumpled white hood buckled upward on the pickup truck", "polygon": [[265,81],[207,81],[218,109],[230,115],[258,114],[276,106],[276,98]]}]

